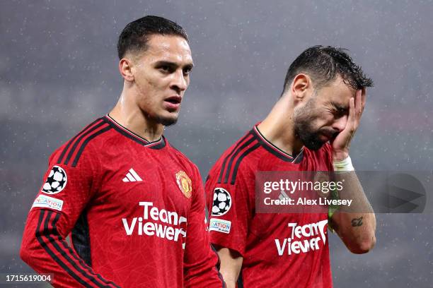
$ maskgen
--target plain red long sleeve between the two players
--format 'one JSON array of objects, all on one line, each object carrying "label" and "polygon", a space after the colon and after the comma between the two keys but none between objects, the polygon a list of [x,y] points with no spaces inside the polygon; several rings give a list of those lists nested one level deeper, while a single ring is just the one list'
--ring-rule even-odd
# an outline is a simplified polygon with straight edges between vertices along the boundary
[{"label": "plain red long sleeve between the two players", "polygon": [[192,203],[187,217],[184,287],[226,287],[217,270],[219,258],[209,242],[204,211],[204,188],[198,169],[192,179]]}]

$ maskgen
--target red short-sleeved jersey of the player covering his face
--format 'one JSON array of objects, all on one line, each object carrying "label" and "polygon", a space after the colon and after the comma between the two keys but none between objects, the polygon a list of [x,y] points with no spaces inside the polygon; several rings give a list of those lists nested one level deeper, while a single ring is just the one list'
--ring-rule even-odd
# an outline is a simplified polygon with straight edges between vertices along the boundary
[{"label": "red short-sleeved jersey of the player covering his face", "polygon": [[211,243],[243,256],[244,287],[332,287],[328,214],[255,210],[256,172],[332,171],[330,149],[291,157],[255,126],[212,167],[205,186]]}]

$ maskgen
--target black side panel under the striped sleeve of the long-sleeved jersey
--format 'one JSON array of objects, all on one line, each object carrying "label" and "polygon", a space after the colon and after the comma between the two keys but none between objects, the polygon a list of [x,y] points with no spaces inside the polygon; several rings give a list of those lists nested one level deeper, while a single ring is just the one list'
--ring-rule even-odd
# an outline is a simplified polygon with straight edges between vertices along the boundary
[{"label": "black side panel under the striped sleeve of the long-sleeved jersey", "polygon": [[79,219],[76,220],[74,229],[71,232],[71,242],[74,250],[88,266],[92,266],[91,242],[88,231],[87,211],[84,210]]}]

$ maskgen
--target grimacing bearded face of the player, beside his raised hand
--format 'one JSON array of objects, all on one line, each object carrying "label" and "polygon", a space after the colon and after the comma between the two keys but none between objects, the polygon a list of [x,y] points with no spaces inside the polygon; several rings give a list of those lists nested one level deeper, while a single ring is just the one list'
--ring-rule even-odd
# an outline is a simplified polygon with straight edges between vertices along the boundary
[{"label": "grimacing bearded face of the player, beside his raised hand", "polygon": [[355,90],[340,76],[325,87],[314,90],[306,104],[294,111],[294,130],[306,148],[318,150],[346,126],[349,101]]}]

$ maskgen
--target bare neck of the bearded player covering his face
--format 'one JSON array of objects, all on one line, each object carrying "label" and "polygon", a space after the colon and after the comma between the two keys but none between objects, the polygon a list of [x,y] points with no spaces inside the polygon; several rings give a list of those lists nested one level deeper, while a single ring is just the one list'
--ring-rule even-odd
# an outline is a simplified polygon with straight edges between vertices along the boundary
[{"label": "bare neck of the bearded player covering his face", "polygon": [[277,148],[289,155],[297,155],[303,144],[294,131],[294,105],[289,98],[290,95],[283,95],[258,129]]}]

